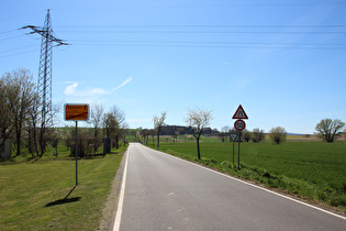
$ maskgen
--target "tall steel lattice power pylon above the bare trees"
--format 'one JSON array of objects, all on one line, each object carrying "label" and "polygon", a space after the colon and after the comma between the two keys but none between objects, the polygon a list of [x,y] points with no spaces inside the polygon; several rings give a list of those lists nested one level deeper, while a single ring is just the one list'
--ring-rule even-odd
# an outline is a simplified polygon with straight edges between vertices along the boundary
[{"label": "tall steel lattice power pylon above the bare trees", "polygon": [[44,26],[38,28],[34,25],[26,25],[21,29],[31,29],[32,32],[27,34],[37,33],[41,38],[41,54],[38,68],[37,92],[41,98],[42,108],[42,127],[49,125],[52,121],[52,51],[53,44],[55,46],[68,45],[54,36],[51,21],[51,13],[47,10],[47,15],[44,21]]}]

